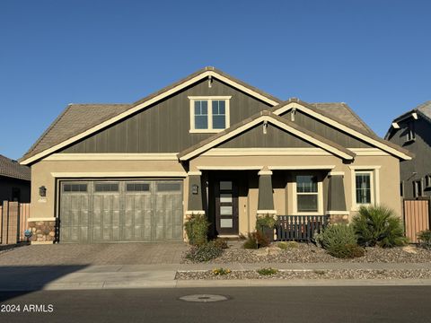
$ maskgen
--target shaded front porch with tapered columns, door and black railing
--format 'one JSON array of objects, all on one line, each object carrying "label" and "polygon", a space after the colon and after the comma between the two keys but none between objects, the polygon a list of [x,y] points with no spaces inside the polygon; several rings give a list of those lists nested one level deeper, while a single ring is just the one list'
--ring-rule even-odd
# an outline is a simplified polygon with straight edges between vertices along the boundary
[{"label": "shaded front porch with tapered columns, door and black railing", "polygon": [[189,172],[187,214],[206,214],[212,238],[255,231],[256,218],[277,217],[277,240],[312,240],[327,223],[347,221],[343,175],[330,168]]}]

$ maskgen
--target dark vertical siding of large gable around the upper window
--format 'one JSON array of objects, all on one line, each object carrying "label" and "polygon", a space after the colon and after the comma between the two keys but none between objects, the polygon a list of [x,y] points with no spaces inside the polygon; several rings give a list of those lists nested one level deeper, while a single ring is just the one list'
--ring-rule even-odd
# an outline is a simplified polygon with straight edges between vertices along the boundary
[{"label": "dark vertical siding of large gable around the upper window", "polygon": [[189,96],[232,96],[230,124],[261,110],[267,103],[213,78],[202,80],[133,116],[66,147],[61,153],[178,153],[213,134],[189,133]]}]

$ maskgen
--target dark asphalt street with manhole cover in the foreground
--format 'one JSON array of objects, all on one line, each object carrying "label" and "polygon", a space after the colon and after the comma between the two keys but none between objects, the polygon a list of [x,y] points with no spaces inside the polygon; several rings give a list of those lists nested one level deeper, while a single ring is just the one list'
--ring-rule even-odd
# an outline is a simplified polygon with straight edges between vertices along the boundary
[{"label": "dark asphalt street with manhole cover in the foreground", "polygon": [[429,286],[1,292],[0,322],[430,322],[430,298]]}]

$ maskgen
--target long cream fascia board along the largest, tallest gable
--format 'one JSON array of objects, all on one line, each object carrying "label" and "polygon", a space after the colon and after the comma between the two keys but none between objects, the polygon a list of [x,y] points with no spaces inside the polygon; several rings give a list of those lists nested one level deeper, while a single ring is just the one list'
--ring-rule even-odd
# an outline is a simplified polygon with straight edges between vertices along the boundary
[{"label": "long cream fascia board along the largest, tallest gable", "polygon": [[73,144],[75,141],[78,141],[87,135],[91,135],[91,134],[95,133],[96,131],[101,130],[104,127],[108,127],[111,124],[113,124],[114,122],[117,122],[122,118],[127,118],[129,115],[131,115],[131,114],[133,114],[133,113],[135,113],[141,109],[145,109],[146,107],[154,104],[158,100],[162,100],[162,99],[172,95],[175,92],[179,92],[180,90],[188,87],[189,85],[191,85],[193,83],[197,83],[198,81],[200,81],[200,80],[202,80],[208,76],[216,77],[217,79],[223,81],[224,83],[228,83],[229,85],[232,85],[234,88],[237,88],[238,90],[240,90],[242,92],[246,92],[246,93],[250,94],[251,96],[253,96],[259,100],[263,100],[264,102],[267,102],[268,104],[270,104],[272,106],[276,106],[278,104],[277,101],[271,100],[271,99],[265,97],[264,95],[262,95],[258,92],[254,92],[251,89],[247,88],[246,86],[244,86],[240,83],[233,82],[232,80],[230,80],[229,78],[225,77],[222,74],[218,74],[215,71],[204,71],[203,73],[198,74],[195,77],[192,77],[191,79],[189,79],[183,83],[178,84],[177,86],[173,87],[172,89],[167,90],[166,92],[163,92],[163,93],[155,96],[154,98],[151,98],[149,100],[145,100],[144,102],[138,103],[138,104],[136,104],[135,107],[132,107],[132,108],[128,109],[127,111],[120,113],[119,115],[117,115],[113,118],[110,118],[106,121],[103,121],[101,124],[94,126],[94,127],[91,127],[90,129],[85,130],[81,134],[75,135],[75,136],[63,141],[62,143],[56,144],[56,145],[54,145],[54,146],[52,146],[52,147],[50,147],[50,148],[48,148],[48,149],[46,149],[40,153],[37,153],[37,154],[31,156],[30,158],[22,160],[20,163],[22,165],[28,165],[31,162],[36,162],[36,161],[40,160],[40,158],[43,158],[50,153],[54,153],[58,149],[61,149],[68,144]]}]

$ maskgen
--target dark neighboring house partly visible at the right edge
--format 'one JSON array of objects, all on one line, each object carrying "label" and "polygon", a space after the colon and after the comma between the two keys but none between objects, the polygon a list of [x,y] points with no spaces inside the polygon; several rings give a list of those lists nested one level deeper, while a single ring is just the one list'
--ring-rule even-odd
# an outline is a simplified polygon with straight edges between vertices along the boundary
[{"label": "dark neighboring house partly visible at the right edge", "polygon": [[431,196],[431,100],[395,118],[385,138],[416,156],[400,163],[400,195]]}]

